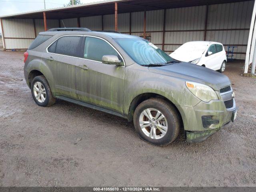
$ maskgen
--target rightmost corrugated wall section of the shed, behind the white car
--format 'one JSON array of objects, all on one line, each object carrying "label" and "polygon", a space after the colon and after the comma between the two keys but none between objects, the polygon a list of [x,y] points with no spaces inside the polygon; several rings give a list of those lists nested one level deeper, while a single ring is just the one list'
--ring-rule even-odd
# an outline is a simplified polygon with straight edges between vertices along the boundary
[{"label": "rightmost corrugated wall section of the shed, behind the white car", "polygon": [[[209,6],[207,29],[218,31],[208,31],[206,40],[221,42],[226,50],[227,45],[236,45],[235,52],[246,52],[253,3],[246,1]],[[245,59],[245,54],[236,54],[235,58]]]}]

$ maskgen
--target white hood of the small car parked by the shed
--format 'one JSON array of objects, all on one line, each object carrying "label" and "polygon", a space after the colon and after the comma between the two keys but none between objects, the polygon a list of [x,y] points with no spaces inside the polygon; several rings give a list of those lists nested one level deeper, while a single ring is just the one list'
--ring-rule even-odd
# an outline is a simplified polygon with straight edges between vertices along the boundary
[{"label": "white hood of the small car parked by the shed", "polygon": [[178,61],[190,62],[195,59],[201,58],[202,54],[203,52],[197,52],[197,51],[192,51],[186,54],[174,51],[173,53],[170,54],[170,56]]}]

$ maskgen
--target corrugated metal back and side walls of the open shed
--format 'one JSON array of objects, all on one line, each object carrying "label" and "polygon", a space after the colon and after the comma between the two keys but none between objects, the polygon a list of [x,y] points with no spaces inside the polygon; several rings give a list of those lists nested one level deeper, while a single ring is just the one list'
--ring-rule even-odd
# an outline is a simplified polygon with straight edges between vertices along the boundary
[{"label": "corrugated metal back and side walls of the open shed", "polygon": [[[206,40],[236,45],[235,58],[244,59],[254,1],[216,4],[208,6]],[[164,10],[146,12],[146,32],[151,42],[170,53],[188,41],[204,40],[207,6],[174,8],[166,10],[165,33]],[[103,24],[102,24],[103,18]],[[144,12],[118,14],[118,31],[142,36]],[[64,19],[66,27],[77,27],[77,18]],[[3,19],[5,37],[34,38],[33,20]],[[48,28],[58,27],[58,20],[47,20]],[[35,20],[36,33],[44,31],[43,20]],[[60,26],[64,27],[62,21]],[[80,18],[80,26],[91,30],[114,30],[114,14]],[[32,39],[5,39],[6,48],[27,48]]]}]

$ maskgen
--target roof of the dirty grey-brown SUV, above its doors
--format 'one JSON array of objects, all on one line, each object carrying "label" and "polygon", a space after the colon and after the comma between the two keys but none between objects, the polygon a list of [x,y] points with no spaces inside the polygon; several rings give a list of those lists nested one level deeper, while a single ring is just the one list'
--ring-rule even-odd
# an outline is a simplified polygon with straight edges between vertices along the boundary
[{"label": "roof of the dirty grey-brown SUV, above its doors", "polygon": [[108,38],[116,39],[116,38],[140,38],[138,36],[128,35],[128,34],[121,34],[116,32],[98,32],[98,31],[46,31],[46,32],[40,32],[39,35],[56,35],[59,36],[63,35],[92,35],[92,36],[99,36],[104,37],[107,36]]}]

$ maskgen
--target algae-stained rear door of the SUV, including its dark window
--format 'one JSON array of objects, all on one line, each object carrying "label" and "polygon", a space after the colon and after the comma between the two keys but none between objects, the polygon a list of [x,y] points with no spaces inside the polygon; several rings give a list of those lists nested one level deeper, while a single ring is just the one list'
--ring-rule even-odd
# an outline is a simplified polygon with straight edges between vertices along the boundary
[{"label": "algae-stained rear door of the SUV, including its dark window", "polygon": [[83,36],[62,36],[47,49],[46,60],[54,74],[56,96],[76,99],[76,67],[81,58]]}]

